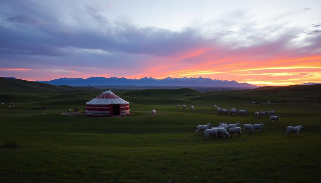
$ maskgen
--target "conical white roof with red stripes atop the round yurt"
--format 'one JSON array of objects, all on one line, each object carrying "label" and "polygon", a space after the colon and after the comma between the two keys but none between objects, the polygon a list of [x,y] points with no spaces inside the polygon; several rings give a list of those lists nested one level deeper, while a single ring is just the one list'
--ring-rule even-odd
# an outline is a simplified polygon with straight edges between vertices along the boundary
[{"label": "conical white roof with red stripes atop the round yurt", "polygon": [[129,104],[126,100],[115,95],[109,89],[87,102],[86,105],[108,105],[108,104]]}]

